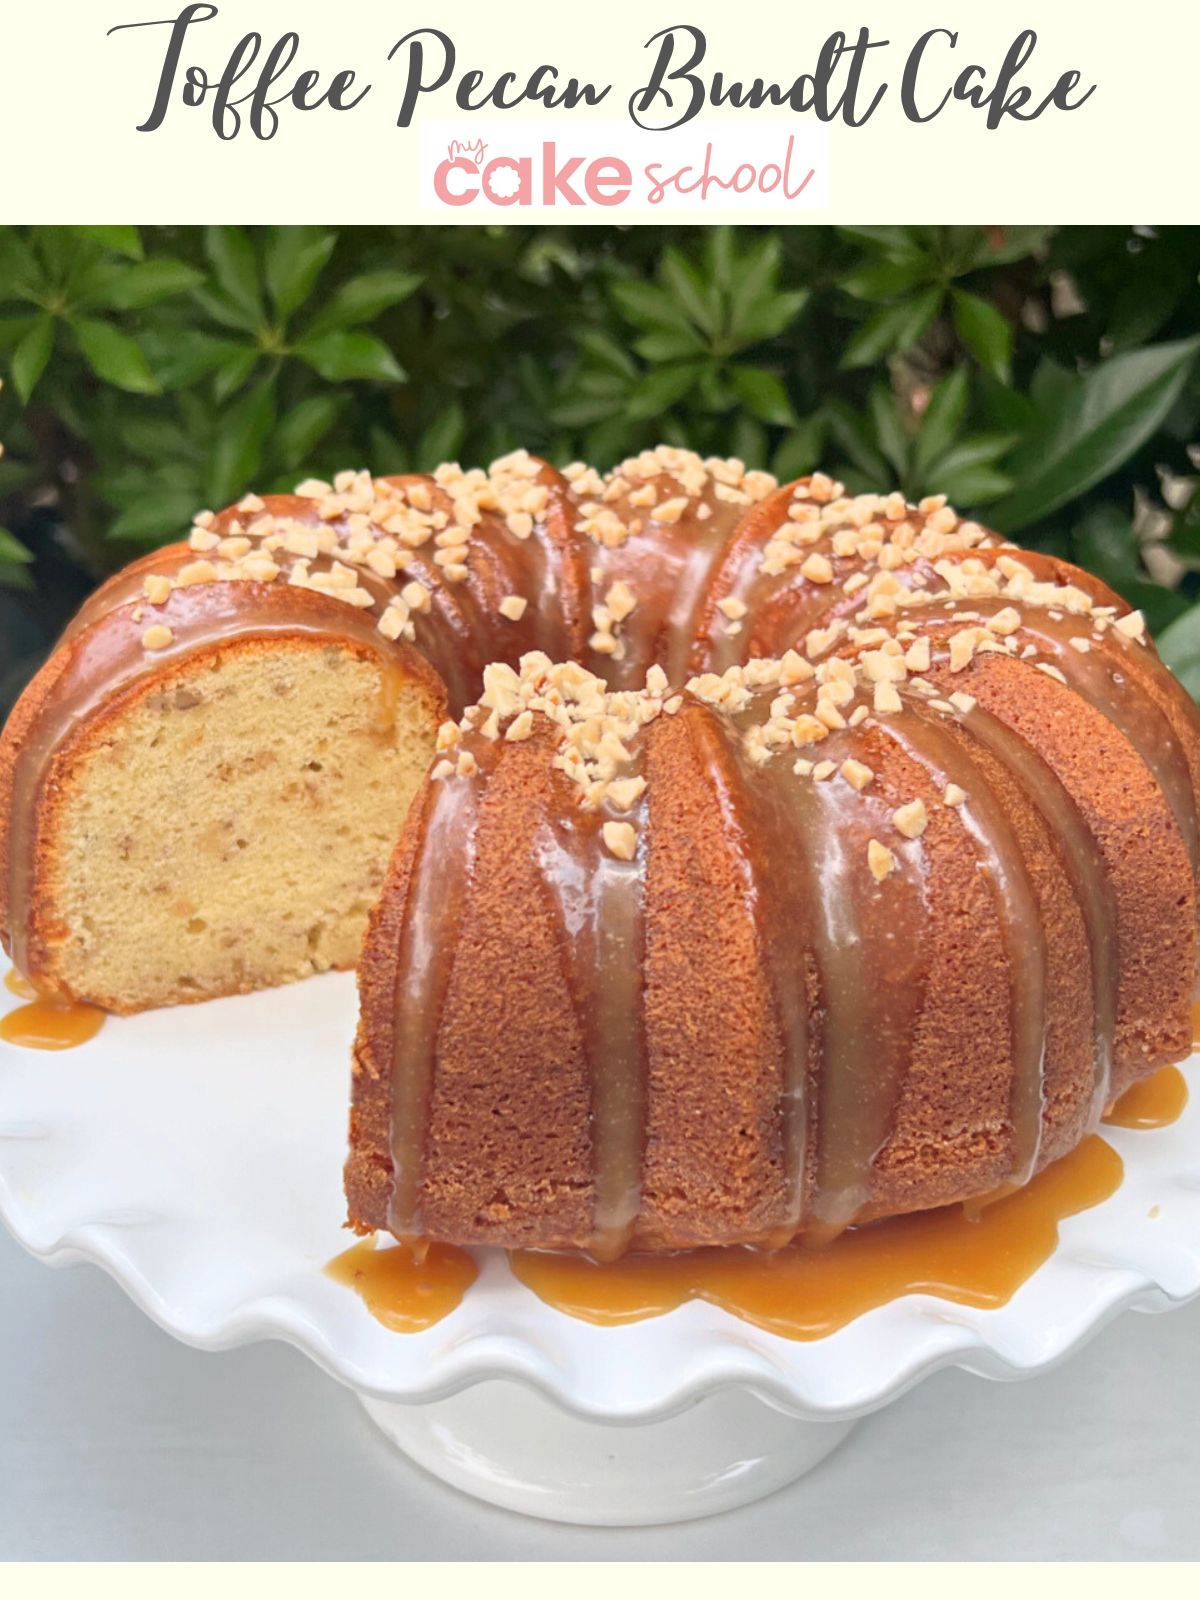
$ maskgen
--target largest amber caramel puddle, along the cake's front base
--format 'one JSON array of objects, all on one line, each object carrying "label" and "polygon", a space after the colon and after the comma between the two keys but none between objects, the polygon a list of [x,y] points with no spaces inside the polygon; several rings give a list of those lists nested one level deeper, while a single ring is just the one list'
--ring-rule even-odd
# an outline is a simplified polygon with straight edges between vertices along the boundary
[{"label": "largest amber caramel puddle, along the cake's front base", "polygon": [[610,1266],[522,1250],[510,1261],[539,1299],[582,1322],[642,1322],[704,1299],[784,1339],[822,1339],[901,1294],[1006,1304],[1053,1253],[1059,1222],[1107,1200],[1122,1174],[1122,1158],[1093,1136],[978,1221],[947,1206],[850,1229],[822,1250],[734,1246]]}]

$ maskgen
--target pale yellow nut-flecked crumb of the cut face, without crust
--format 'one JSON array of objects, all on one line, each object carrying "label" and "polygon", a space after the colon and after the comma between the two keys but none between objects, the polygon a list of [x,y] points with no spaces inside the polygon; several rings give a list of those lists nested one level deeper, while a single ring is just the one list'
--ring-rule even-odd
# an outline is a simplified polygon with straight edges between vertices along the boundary
[{"label": "pale yellow nut-flecked crumb of the cut face, without crust", "polygon": [[354,966],[435,718],[331,640],[227,642],[139,683],[42,818],[54,981],[136,1011]]}]

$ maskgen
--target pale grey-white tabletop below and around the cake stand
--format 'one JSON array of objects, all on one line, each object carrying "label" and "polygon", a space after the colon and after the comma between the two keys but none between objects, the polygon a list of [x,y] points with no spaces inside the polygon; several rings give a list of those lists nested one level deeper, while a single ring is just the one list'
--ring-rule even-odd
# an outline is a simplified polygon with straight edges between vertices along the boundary
[{"label": "pale grey-white tabletop below and around the cake stand", "polygon": [[1032,1382],[941,1373],[757,1506],[587,1530],[462,1498],[304,1357],[186,1349],[0,1232],[0,1560],[1195,1560],[1198,1506],[1200,1304]]}]

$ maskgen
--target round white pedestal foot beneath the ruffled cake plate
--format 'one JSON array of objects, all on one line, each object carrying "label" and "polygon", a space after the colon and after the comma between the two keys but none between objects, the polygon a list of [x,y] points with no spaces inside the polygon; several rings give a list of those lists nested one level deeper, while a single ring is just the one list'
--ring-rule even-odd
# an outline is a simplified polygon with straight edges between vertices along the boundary
[{"label": "round white pedestal foot beneath the ruffled cake plate", "polygon": [[762,1499],[811,1472],[854,1426],[810,1422],[725,1389],[662,1422],[594,1422],[523,1384],[450,1400],[360,1395],[406,1456],[477,1499],[550,1522],[690,1522]]}]

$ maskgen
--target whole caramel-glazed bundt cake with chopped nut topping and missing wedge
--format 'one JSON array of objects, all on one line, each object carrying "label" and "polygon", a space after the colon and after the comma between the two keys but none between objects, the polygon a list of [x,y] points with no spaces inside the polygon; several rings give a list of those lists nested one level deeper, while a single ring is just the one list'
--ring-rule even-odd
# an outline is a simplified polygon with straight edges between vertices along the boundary
[{"label": "whole caramel-glazed bundt cake with chopped nut topping and missing wedge", "polygon": [[358,1230],[779,1243],[1187,1054],[1198,781],[1141,616],[941,498],[517,453],[101,589],[0,741],[0,922],[122,1011],[362,947]]}]

